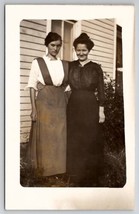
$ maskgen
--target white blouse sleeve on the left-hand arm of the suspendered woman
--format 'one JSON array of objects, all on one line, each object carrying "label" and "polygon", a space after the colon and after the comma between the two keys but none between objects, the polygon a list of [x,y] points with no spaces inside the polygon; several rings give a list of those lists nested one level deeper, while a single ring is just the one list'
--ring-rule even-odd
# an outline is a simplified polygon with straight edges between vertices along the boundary
[{"label": "white blouse sleeve on the left-hand arm of the suspendered woman", "polygon": [[26,88],[34,88],[35,90],[38,90],[37,89],[38,76],[39,76],[38,63],[37,63],[37,60],[33,60],[31,64],[28,85]]}]

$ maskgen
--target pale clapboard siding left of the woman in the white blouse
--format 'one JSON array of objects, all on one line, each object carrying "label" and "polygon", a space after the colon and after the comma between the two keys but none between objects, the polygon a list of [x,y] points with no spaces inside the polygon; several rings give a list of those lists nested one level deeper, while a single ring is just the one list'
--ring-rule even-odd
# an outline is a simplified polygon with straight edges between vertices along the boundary
[{"label": "pale clapboard siding left of the woman in the white blouse", "polygon": [[44,38],[46,20],[22,20],[20,22],[20,140],[28,142],[31,128],[31,103],[28,83],[31,63],[45,54]]}]

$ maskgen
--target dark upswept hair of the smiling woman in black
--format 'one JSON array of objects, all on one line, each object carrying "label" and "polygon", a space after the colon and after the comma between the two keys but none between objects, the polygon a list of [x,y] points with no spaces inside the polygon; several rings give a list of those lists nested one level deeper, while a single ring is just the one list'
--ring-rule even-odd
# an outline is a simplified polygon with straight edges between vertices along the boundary
[{"label": "dark upswept hair of the smiling woman in black", "polygon": [[86,33],[81,33],[80,36],[74,40],[73,46],[75,49],[77,48],[78,44],[85,44],[89,51],[94,47],[94,42]]}]

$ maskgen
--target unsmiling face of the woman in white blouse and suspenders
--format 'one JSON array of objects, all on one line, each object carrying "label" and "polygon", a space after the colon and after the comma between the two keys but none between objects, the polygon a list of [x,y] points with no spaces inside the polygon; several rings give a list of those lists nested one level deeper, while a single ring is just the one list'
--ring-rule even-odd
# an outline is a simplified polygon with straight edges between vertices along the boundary
[{"label": "unsmiling face of the woman in white blouse and suspenders", "polygon": [[48,55],[51,55],[52,57],[56,57],[59,53],[61,48],[61,41],[52,41],[48,44]]}]

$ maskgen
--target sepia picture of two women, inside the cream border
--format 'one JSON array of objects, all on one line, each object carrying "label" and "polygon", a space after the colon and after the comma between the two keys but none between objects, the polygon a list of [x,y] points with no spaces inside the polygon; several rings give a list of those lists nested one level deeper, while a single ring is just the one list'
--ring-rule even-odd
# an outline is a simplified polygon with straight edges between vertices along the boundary
[{"label": "sepia picture of two women, inside the cream border", "polygon": [[21,185],[123,187],[122,27],[22,20],[20,65]]}]

